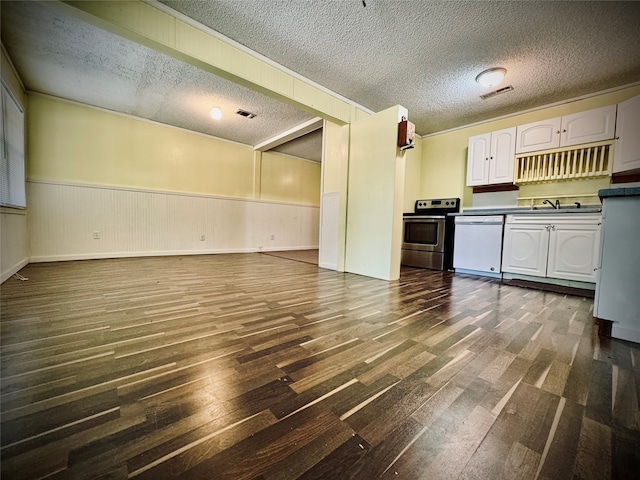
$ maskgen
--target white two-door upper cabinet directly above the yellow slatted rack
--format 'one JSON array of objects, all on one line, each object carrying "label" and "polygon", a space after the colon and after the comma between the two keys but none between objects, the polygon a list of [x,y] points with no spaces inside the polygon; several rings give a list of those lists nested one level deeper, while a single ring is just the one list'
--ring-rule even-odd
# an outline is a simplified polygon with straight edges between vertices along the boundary
[{"label": "white two-door upper cabinet directly above the yellow slatted rack", "polygon": [[527,123],[518,127],[516,153],[568,147],[613,138],[616,106]]}]

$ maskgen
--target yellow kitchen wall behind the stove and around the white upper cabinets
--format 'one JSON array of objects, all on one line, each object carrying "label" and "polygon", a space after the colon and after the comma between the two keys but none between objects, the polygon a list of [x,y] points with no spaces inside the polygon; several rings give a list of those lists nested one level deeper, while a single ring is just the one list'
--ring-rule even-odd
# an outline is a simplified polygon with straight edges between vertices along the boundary
[{"label": "yellow kitchen wall behind the stove and around the white upper cabinets", "polygon": [[[613,105],[638,94],[640,94],[640,86],[634,86],[533,112],[513,115],[481,125],[425,137],[421,140],[422,165],[419,196],[424,198],[459,196],[463,199],[464,206],[471,206],[472,191],[470,187],[465,186],[467,142],[470,136]],[[550,187],[549,185],[552,186]],[[560,196],[582,194],[585,188],[590,190],[590,193],[594,193],[591,190],[595,189],[595,192],[597,192],[597,188],[602,188],[600,185],[601,182],[592,183],[590,186],[586,186],[586,184],[582,184],[579,181],[556,182],[546,186],[531,185],[526,189],[527,195],[530,196],[546,195],[550,193],[549,189],[555,195]],[[539,189],[544,193],[540,193]],[[410,199],[406,199],[406,201],[409,202]]]}]

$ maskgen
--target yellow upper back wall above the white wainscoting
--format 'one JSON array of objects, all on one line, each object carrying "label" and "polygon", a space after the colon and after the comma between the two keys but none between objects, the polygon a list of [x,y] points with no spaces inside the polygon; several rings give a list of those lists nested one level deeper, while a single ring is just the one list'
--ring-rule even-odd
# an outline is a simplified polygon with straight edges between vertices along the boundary
[{"label": "yellow upper back wall above the white wainscoting", "polygon": [[266,154],[254,168],[248,145],[39,94],[29,95],[29,117],[33,181],[319,204],[313,162]]}]

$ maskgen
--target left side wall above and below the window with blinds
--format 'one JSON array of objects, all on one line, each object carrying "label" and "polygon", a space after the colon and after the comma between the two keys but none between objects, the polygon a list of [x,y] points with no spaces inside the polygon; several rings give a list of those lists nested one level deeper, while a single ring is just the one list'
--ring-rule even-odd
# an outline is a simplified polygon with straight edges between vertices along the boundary
[{"label": "left side wall above and below the window with blinds", "polygon": [[[25,105],[25,94],[18,76],[14,73],[2,49],[2,79],[13,95]],[[28,199],[27,199],[28,206]],[[27,211],[4,208],[0,210],[0,282],[4,282],[29,262],[29,237],[27,234]]]}]

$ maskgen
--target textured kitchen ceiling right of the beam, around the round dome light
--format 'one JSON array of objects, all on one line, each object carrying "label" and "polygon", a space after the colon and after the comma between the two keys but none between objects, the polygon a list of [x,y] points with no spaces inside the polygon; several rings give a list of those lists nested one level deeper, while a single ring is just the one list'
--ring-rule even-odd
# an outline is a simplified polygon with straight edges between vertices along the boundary
[{"label": "textured kitchen ceiling right of the beam, around the round dome light", "polygon": [[[640,2],[162,3],[421,135],[640,80]],[[481,100],[498,66],[514,90]]]}]

